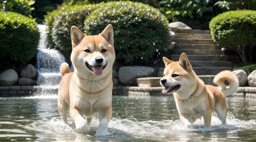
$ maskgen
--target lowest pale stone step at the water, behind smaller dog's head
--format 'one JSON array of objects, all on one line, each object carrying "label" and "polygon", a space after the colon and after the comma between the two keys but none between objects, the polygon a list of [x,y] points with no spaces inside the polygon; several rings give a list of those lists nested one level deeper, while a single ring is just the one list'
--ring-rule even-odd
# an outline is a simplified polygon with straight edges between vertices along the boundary
[{"label": "lowest pale stone step at the water, behind smaller dog's head", "polygon": [[[205,84],[217,86],[213,80],[215,75],[198,75],[200,79],[204,81]],[[137,78],[137,83],[139,87],[161,87],[160,79],[163,77],[145,77]]]}]

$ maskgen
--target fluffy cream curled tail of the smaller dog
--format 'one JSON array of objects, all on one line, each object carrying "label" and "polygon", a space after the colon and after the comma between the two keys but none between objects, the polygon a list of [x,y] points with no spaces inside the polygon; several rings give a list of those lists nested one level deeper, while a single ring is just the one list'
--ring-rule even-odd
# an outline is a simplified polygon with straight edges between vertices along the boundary
[{"label": "fluffy cream curled tail of the smaller dog", "polygon": [[214,83],[219,86],[219,90],[226,96],[232,95],[237,91],[239,80],[231,71],[221,71],[214,78]]}]

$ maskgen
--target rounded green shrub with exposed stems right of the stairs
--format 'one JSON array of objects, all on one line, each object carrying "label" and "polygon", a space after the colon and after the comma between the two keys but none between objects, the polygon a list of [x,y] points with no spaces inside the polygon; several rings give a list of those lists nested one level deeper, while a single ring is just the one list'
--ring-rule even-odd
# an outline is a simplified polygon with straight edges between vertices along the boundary
[{"label": "rounded green shrub with exposed stems right of the stairs", "polygon": [[[256,11],[229,11],[214,17],[209,24],[214,41],[233,50],[241,64],[252,64],[252,48],[256,45]],[[239,61],[240,61],[239,60]]]}]

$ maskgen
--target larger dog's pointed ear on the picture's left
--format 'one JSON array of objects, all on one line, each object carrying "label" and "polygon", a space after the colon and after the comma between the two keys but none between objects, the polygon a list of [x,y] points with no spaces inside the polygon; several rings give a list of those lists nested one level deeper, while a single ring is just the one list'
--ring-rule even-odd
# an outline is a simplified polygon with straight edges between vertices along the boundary
[{"label": "larger dog's pointed ear on the picture's left", "polygon": [[76,45],[86,36],[79,28],[76,26],[71,27],[71,41],[72,41],[72,47],[76,47]]}]

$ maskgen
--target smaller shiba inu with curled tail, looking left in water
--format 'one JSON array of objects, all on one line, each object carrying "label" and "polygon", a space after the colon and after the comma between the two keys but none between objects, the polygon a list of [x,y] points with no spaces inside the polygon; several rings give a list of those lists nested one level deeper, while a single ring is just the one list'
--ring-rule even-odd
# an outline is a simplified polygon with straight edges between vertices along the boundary
[{"label": "smaller shiba inu with curled tail, looking left in water", "polygon": [[178,62],[163,58],[165,69],[160,83],[162,93],[173,93],[181,123],[191,127],[198,114],[204,118],[204,127],[211,128],[212,112],[216,111],[223,124],[226,123],[227,105],[225,96],[237,91],[239,81],[231,71],[222,71],[214,78],[219,88],[205,85],[196,76],[185,53]]}]

